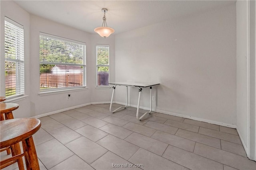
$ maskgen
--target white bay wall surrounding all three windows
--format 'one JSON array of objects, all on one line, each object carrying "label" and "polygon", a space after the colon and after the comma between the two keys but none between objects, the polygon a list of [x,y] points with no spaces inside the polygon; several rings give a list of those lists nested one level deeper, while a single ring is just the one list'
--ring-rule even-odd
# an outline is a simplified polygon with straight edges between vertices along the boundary
[{"label": "white bay wall surrounding all three windows", "polygon": [[[110,78],[114,81],[115,43],[114,36],[104,39],[54,21],[30,15],[12,1],[1,3],[1,80],[4,80],[4,15],[24,25],[25,38],[25,95],[26,98],[14,101],[20,108],[14,111],[14,117],[32,117],[45,113],[54,113],[63,109],[76,107],[91,102],[107,102],[111,98],[110,89],[96,87],[96,44],[110,45]],[[86,43],[87,88],[81,91],[64,92],[40,96],[39,73],[39,34],[40,32],[73,39]],[[3,61],[3,62],[2,62]],[[1,96],[4,96],[4,82],[1,81]],[[70,100],[67,95],[70,94]],[[92,95],[93,94],[93,95]]]}]

